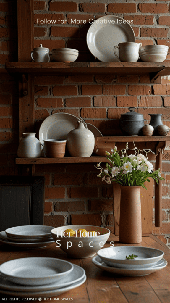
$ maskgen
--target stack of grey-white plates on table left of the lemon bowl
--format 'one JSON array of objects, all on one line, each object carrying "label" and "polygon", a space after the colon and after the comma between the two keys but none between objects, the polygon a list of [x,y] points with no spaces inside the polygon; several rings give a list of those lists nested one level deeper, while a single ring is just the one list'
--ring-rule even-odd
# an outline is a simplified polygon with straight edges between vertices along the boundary
[{"label": "stack of grey-white plates on table left of the lemon bowl", "polygon": [[42,248],[54,243],[52,226],[22,225],[0,232],[0,241],[21,248]]}]

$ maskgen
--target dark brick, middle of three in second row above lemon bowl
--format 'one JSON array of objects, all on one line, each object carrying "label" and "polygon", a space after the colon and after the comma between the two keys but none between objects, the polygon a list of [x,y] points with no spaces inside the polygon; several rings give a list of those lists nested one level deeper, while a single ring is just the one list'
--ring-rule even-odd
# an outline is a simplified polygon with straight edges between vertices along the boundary
[{"label": "dark brick, middle of three in second row above lemon bowl", "polygon": [[54,211],[84,211],[84,201],[61,201],[54,205]]}]

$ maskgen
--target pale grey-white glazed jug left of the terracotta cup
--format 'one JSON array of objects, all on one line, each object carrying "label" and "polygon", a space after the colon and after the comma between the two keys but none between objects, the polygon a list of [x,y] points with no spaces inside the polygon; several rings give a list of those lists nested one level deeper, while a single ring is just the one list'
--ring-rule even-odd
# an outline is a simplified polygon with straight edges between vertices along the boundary
[{"label": "pale grey-white glazed jug left of the terracotta cup", "polygon": [[23,133],[24,138],[19,138],[17,155],[19,158],[41,157],[41,143],[35,138],[36,133]]}]

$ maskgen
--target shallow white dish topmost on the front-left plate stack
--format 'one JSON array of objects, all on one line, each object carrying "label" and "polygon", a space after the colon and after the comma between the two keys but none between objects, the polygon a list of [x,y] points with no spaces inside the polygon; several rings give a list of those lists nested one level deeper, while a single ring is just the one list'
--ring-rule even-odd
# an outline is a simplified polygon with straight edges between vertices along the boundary
[{"label": "shallow white dish topmost on the front-left plate stack", "polygon": [[9,281],[21,285],[43,285],[59,281],[73,270],[73,264],[44,257],[19,258],[0,265],[0,272]]}]

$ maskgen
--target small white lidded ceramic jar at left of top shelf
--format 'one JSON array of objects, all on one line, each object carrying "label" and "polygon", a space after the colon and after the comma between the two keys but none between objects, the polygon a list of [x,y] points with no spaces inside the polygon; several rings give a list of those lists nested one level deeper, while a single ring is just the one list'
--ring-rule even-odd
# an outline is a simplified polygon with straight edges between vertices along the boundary
[{"label": "small white lidded ceramic jar at left of top shelf", "polygon": [[43,47],[40,44],[40,47],[36,47],[31,52],[31,58],[34,62],[50,62],[50,49]]}]

